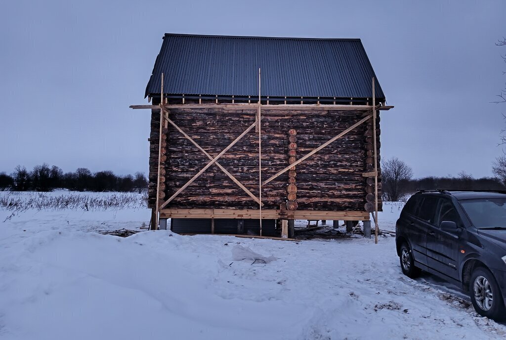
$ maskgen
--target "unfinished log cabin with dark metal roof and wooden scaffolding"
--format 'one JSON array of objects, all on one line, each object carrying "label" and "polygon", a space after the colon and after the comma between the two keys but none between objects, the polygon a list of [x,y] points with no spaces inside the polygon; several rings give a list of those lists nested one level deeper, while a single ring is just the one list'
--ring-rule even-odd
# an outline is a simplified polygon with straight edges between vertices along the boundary
[{"label": "unfinished log cabin with dark metal roof and wooden scaffolding", "polygon": [[[382,208],[379,112],[360,39],[165,34],[151,105],[153,229],[288,237]],[[377,224],[376,224],[377,230]]]}]

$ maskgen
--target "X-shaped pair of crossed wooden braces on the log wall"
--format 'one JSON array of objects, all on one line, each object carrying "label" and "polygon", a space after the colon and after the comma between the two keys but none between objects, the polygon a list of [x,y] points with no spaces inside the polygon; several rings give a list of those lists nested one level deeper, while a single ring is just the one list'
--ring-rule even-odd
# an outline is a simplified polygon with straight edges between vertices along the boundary
[{"label": "X-shaped pair of crossed wooden braces on the log wall", "polygon": [[181,134],[183,134],[183,136],[185,136],[185,138],[187,138],[193,145],[195,145],[195,147],[197,149],[199,149],[200,151],[202,151],[207,156],[207,158],[210,159],[210,162],[208,162],[207,165],[205,165],[195,176],[193,176],[185,185],[183,185],[181,188],[179,188],[178,191],[176,191],[170,198],[168,198],[160,206],[160,209],[162,209],[163,207],[165,207],[169,202],[171,202],[174,198],[176,198],[176,196],[178,196],[181,192],[183,192],[183,190],[185,190],[190,184],[192,184],[193,181],[195,181],[200,175],[202,175],[204,173],[204,171],[206,171],[206,169],[209,166],[211,166],[213,164],[216,164],[221,169],[221,171],[223,171],[225,173],[225,175],[227,175],[235,184],[237,184],[242,190],[244,190],[244,192],[246,192],[246,194],[248,194],[249,197],[251,197],[252,199],[254,199],[257,203],[263,205],[263,203],[260,202],[260,199],[257,196],[255,196],[254,194],[252,194],[251,191],[249,191],[244,185],[242,185],[242,183],[239,182],[232,174],[230,174],[227,171],[227,169],[225,169],[220,163],[218,163],[218,159],[221,156],[223,156],[225,154],[225,152],[227,152],[232,146],[234,146],[242,137],[244,137],[251,129],[253,129],[258,124],[257,121],[255,121],[253,124],[249,125],[249,127],[239,137],[237,137],[232,143],[229,144],[229,146],[227,146],[225,149],[223,149],[222,152],[220,152],[216,157],[213,158],[213,156],[211,156],[209,153],[207,153],[190,136],[188,136],[188,134],[186,134],[183,130],[181,130],[181,128],[178,125],[176,125],[176,123],[174,121],[172,121],[170,118],[168,118],[168,111],[167,111],[167,109],[163,105],[160,105],[160,109],[163,112],[166,113],[165,119],[171,125],[173,125],[174,128],[176,128],[176,130],[178,130]]}]

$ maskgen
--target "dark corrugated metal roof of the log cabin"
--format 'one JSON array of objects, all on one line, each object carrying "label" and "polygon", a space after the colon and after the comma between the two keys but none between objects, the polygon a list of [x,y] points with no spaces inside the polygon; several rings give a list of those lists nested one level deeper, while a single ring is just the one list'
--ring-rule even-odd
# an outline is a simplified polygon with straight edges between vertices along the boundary
[{"label": "dark corrugated metal roof of the log cabin", "polygon": [[[146,96],[372,97],[374,75],[360,39],[165,34]],[[376,80],[376,98],[385,95]]]}]

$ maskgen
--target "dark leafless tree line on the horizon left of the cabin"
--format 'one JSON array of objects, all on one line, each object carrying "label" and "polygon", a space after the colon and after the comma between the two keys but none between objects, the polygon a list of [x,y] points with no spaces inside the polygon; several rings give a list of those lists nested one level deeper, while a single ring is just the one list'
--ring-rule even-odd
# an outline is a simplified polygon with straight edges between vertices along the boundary
[{"label": "dark leafless tree line on the horizon left of the cabin", "polygon": [[74,191],[139,191],[148,187],[144,173],[134,175],[115,175],[112,171],[92,173],[90,169],[79,167],[75,172],[64,173],[56,165],[35,165],[31,171],[18,165],[10,175],[0,173],[0,190],[13,191],[52,191],[68,189]]}]

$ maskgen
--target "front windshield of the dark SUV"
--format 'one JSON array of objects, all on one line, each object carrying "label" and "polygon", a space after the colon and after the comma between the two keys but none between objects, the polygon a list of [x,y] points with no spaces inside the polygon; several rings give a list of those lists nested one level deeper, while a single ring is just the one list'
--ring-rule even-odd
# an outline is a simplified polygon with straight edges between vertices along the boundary
[{"label": "front windshield of the dark SUV", "polygon": [[476,228],[506,227],[506,199],[480,198],[459,202]]}]

